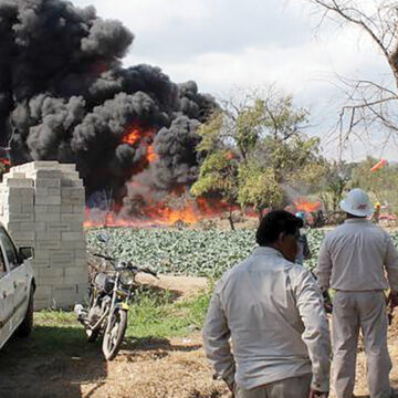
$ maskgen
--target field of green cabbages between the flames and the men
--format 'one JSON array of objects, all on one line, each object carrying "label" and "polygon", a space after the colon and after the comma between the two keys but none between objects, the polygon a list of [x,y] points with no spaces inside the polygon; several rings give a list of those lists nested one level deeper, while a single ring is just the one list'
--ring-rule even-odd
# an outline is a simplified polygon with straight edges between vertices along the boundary
[{"label": "field of green cabbages between the flames and the men", "polygon": [[[104,252],[98,233],[104,229],[87,230],[87,244],[91,251]],[[130,229],[113,228],[107,253],[129,259],[140,266],[149,266],[159,273],[175,275],[219,277],[227,269],[245,259],[255,248],[254,231],[197,231],[174,229]],[[316,265],[317,253],[324,237],[322,230],[307,232],[313,253],[305,266]],[[394,241],[398,245],[398,232]]]}]

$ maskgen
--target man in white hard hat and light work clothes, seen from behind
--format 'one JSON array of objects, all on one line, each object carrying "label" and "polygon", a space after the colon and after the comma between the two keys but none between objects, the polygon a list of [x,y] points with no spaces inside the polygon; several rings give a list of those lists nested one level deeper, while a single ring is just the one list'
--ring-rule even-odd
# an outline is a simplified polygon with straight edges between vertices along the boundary
[{"label": "man in white hard hat and light work clothes, seen from behind", "polygon": [[373,206],[365,191],[353,189],[341,202],[346,221],[327,233],[315,270],[321,290],[336,291],[333,302],[333,381],[337,398],[353,397],[359,329],[364,336],[370,398],[394,397],[389,384],[384,291],[396,305],[398,253],[390,235],[367,217]]}]

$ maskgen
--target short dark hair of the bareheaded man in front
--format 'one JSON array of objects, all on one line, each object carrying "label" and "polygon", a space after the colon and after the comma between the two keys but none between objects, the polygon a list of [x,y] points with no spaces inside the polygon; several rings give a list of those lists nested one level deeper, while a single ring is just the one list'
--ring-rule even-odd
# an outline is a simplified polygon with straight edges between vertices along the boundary
[{"label": "short dark hair of the bareheaded man in front", "polygon": [[303,220],[289,211],[274,210],[269,212],[260,222],[255,240],[260,245],[266,245],[277,240],[279,235],[295,234],[303,227]]}]

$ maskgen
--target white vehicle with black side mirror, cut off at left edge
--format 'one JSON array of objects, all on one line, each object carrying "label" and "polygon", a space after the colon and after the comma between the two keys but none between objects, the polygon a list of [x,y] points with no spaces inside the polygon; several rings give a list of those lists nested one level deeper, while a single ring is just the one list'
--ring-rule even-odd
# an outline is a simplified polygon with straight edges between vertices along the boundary
[{"label": "white vehicle with black side mirror, cut off at left edge", "polygon": [[0,348],[14,332],[28,336],[32,331],[33,254],[33,248],[17,248],[0,223]]}]

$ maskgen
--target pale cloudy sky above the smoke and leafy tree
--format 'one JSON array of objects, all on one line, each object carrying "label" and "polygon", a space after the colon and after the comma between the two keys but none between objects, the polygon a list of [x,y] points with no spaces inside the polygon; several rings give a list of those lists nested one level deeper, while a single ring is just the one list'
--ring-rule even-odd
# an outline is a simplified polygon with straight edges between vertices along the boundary
[{"label": "pale cloudy sky above the smoke and leafy tree", "polygon": [[[368,1],[368,0],[363,0]],[[311,111],[310,135],[322,138],[328,158],[339,156],[329,130],[345,102],[338,75],[388,77],[378,50],[352,27],[326,21],[306,0],[72,0],[94,6],[100,17],[121,20],[135,40],[124,65],[157,65],[174,82],[195,80],[217,98],[237,88],[270,84]],[[383,133],[366,145],[353,142],[347,160],[367,155],[398,160]]]}]

